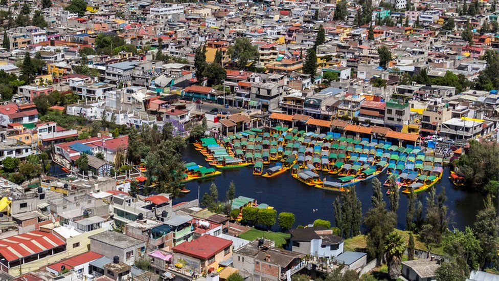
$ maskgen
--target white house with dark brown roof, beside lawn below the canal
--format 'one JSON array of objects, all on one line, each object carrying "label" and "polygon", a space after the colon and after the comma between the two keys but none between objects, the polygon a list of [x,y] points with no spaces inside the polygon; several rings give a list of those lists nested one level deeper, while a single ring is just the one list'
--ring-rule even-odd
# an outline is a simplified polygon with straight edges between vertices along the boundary
[{"label": "white house with dark brown roof, beside lawn below the canal", "polygon": [[291,245],[293,252],[319,257],[334,257],[343,253],[342,237],[333,234],[324,227],[307,227],[291,229]]}]

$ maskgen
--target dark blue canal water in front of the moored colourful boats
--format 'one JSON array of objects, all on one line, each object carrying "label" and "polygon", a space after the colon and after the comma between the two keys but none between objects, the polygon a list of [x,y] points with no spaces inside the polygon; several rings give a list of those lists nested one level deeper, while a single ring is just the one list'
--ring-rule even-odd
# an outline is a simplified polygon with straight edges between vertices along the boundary
[{"label": "dark blue canal water in front of the moored colourful boats", "polygon": [[[205,158],[194,149],[192,144],[187,146],[183,159],[185,162],[196,162],[199,165],[208,166]],[[272,165],[272,164],[271,164]],[[291,177],[290,171],[274,178],[263,178],[253,176],[253,166],[239,169],[223,169],[222,175],[208,181],[191,181],[187,183],[188,194],[183,194],[174,200],[175,203],[197,199],[198,187],[200,197],[209,192],[212,181],[218,187],[219,199],[225,199],[225,192],[229,189],[229,183],[236,184],[236,197],[245,196],[257,199],[258,203],[266,203],[273,206],[278,212],[293,212],[296,217],[295,227],[313,223],[316,219],[331,221],[334,224],[333,201],[340,193],[326,191],[307,186]],[[445,188],[447,206],[451,220],[449,228],[464,230],[466,226],[473,224],[475,215],[483,207],[483,196],[479,193],[465,191],[454,187],[450,181],[449,168],[444,169],[442,180],[436,184],[437,194]],[[324,178],[324,176],[321,176]],[[378,179],[383,183],[386,174],[380,175]],[[328,176],[328,179],[331,179]],[[366,181],[356,186],[357,197],[362,203],[362,212],[365,213],[371,206],[372,186],[371,181]],[[418,199],[426,205],[427,192],[418,193]],[[384,196],[388,203],[388,197]],[[397,212],[397,228],[405,229],[405,211],[407,196],[400,193],[399,210]]]}]

